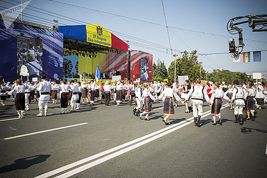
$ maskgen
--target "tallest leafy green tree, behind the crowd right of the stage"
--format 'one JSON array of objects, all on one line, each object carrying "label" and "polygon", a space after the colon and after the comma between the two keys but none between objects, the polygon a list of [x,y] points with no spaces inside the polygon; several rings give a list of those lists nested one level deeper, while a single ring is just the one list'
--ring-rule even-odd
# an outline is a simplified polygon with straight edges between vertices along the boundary
[{"label": "tallest leafy green tree, behind the crowd right of the stage", "polygon": [[[206,71],[203,66],[197,61],[196,50],[193,50],[190,54],[185,50],[183,55],[176,58],[176,78],[180,75],[188,75],[188,78],[195,81],[197,78],[204,78]],[[201,73],[200,73],[201,68]],[[174,81],[175,74],[175,61],[172,61],[168,68],[169,80]]]}]

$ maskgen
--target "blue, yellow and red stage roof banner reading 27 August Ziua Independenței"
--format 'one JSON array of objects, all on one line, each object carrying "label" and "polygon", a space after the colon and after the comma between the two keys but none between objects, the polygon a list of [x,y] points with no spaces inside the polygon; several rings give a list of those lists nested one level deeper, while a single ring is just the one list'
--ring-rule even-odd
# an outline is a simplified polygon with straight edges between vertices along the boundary
[{"label": "blue, yellow and red stage roof banner reading 27 August Ziua Independen\u021bei", "polygon": [[128,51],[128,45],[101,25],[58,26],[65,38],[76,39],[101,46]]}]

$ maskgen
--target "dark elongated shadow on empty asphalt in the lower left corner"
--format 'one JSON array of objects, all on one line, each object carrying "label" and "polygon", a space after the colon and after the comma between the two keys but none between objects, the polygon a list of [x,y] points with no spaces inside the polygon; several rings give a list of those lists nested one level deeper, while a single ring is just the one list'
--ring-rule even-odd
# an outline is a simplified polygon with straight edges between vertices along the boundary
[{"label": "dark elongated shadow on empty asphalt in the lower left corner", "polygon": [[14,164],[0,167],[0,173],[11,172],[17,169],[27,169],[28,167],[32,165],[39,164],[39,163],[46,161],[46,159],[49,157],[50,155],[36,155],[36,156],[18,159],[14,161],[15,162]]}]

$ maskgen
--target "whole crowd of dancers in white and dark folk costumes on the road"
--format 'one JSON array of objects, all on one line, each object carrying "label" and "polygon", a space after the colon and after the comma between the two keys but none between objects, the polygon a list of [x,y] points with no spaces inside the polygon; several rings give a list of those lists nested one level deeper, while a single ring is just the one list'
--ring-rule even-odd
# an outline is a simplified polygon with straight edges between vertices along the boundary
[{"label": "whole crowd of dancers in white and dark folk costumes on the road", "polygon": [[[185,113],[193,112],[195,126],[200,127],[199,121],[203,115],[203,104],[206,101],[211,106],[213,116],[213,125],[216,125],[216,116],[218,123],[222,123],[220,109],[222,98],[230,104],[230,109],[234,110],[235,123],[243,124],[244,119],[255,121],[256,110],[266,103],[266,86],[264,83],[253,83],[248,81],[247,84],[239,83],[238,80],[231,84],[215,82],[202,83],[201,79],[194,82],[186,80],[184,85],[171,82],[129,82],[117,81],[98,84],[97,81],[91,80],[77,81],[60,79],[60,83],[47,81],[46,76],[41,77],[41,82],[22,82],[21,79],[0,84],[1,104],[5,106],[8,100],[15,101],[16,110],[19,118],[24,118],[25,111],[29,110],[29,103],[36,95],[38,101],[39,113],[37,116],[47,116],[48,103],[57,104],[59,91],[61,113],[67,113],[68,106],[71,106],[70,112],[76,112],[81,108],[81,103],[90,103],[94,105],[96,100],[101,100],[101,104],[110,105],[114,100],[117,106],[121,106],[124,101],[129,101],[133,108],[133,114],[139,116],[141,120],[145,115],[145,120],[149,121],[149,113],[153,111],[152,104],[162,99],[163,101],[163,122],[165,125],[171,124],[169,118],[175,114],[175,106],[178,102],[185,105]],[[247,116],[243,117],[245,108]],[[143,111],[143,112],[142,112]]]}]

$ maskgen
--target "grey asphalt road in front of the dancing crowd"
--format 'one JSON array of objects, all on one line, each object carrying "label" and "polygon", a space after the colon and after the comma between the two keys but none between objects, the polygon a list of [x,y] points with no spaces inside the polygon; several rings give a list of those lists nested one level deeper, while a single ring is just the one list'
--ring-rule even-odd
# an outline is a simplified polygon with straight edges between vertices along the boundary
[{"label": "grey asphalt road in front of the dancing crowd", "polygon": [[169,126],[162,101],[153,104],[151,121],[133,116],[128,104],[98,101],[60,114],[49,103],[50,115],[37,117],[34,101],[18,119],[7,102],[0,107],[0,177],[267,177],[266,107],[239,125],[226,105],[222,125],[213,126],[205,103],[197,128],[181,104]]}]

